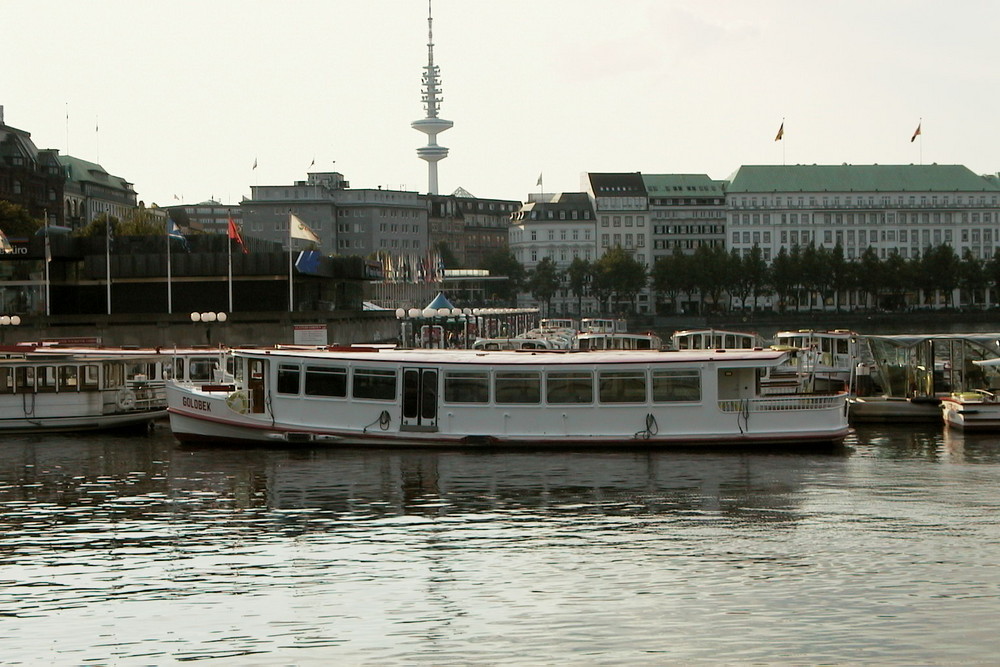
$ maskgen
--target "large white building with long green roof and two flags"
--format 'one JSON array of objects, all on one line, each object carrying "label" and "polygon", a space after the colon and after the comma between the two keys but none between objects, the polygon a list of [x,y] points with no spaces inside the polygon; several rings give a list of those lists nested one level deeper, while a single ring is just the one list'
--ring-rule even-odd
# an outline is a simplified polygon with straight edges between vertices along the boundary
[{"label": "large white building with long green roof and two flags", "polygon": [[849,260],[869,248],[882,259],[1000,248],[1000,185],[961,165],[744,166],[726,201],[729,247],[760,246],[767,261],[810,243],[840,245]]}]

